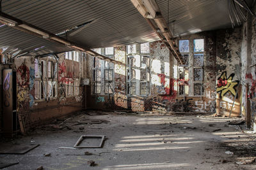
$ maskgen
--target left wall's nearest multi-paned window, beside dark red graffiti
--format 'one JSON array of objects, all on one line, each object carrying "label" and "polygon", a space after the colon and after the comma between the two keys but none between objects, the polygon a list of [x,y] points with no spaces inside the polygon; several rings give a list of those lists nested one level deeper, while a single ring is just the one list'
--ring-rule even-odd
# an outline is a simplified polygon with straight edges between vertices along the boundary
[{"label": "left wall's nearest multi-paned window, beside dark red graffiti", "polygon": [[35,99],[57,97],[58,64],[54,57],[35,59]]}]

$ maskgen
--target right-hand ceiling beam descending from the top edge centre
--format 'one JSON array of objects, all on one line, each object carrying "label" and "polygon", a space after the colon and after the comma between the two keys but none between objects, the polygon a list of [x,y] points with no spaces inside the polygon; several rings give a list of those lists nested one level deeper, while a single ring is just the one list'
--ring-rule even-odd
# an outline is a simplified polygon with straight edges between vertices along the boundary
[{"label": "right-hand ceiling beam descending from the top edge centre", "polygon": [[152,27],[152,29],[156,32],[157,36],[159,36],[162,41],[167,41],[167,43],[165,44],[170,49],[173,57],[175,57],[175,59],[177,59],[180,64],[184,64],[184,57],[180,54],[179,47],[173,40],[172,33],[168,27],[168,24],[164,20],[163,15],[161,15],[161,11],[159,10],[156,1],[131,0],[131,2],[135,6],[135,8],[137,8],[137,10],[141,13],[141,15],[147,20],[150,27]]}]

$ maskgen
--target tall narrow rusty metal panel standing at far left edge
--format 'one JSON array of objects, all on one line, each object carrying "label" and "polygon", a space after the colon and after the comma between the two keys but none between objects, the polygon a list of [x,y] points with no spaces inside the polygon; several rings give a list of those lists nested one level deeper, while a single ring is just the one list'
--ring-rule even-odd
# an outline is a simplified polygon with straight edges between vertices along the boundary
[{"label": "tall narrow rusty metal panel standing at far left edge", "polygon": [[12,69],[3,70],[3,131],[13,130]]}]

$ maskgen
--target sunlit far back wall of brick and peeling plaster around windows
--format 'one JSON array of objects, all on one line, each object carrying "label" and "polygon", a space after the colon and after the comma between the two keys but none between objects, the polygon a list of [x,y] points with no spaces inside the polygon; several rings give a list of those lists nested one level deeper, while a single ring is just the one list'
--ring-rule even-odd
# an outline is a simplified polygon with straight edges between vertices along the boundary
[{"label": "sunlit far back wall of brick and peeling plaster around windows", "polygon": [[[186,99],[193,99],[189,105],[182,102],[184,97],[177,96],[177,60],[170,54],[170,50],[161,41],[150,42],[150,94],[148,96],[127,95],[126,67],[115,64],[113,95],[90,94],[88,102],[91,108],[103,110],[132,110],[132,111],[215,111],[216,107],[216,32],[203,32],[184,37],[185,39],[204,38],[204,77],[205,93],[202,97],[193,96],[193,81],[190,81],[191,90]],[[126,48],[114,48],[115,60],[126,64]],[[191,57],[193,63],[193,58]],[[92,58],[88,59],[88,68],[92,67]],[[192,65],[191,65],[192,66]],[[92,70],[89,71],[92,80]],[[193,80],[193,72],[189,73]],[[175,78],[176,77],[176,78]],[[92,85],[92,84],[91,84]],[[91,87],[92,90],[92,87]],[[138,91],[140,89],[136,89]],[[179,100],[178,102],[176,100]],[[180,105],[182,103],[182,105]],[[186,108],[183,107],[184,104]]]}]

